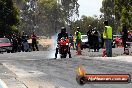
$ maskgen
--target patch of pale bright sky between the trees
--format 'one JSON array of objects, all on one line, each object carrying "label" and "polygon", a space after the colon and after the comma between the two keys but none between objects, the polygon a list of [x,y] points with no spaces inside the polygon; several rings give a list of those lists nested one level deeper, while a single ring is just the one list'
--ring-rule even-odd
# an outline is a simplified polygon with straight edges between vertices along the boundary
[{"label": "patch of pale bright sky between the trees", "polygon": [[[78,0],[80,4],[79,14],[86,16],[100,15],[100,8],[102,7],[103,0]],[[79,17],[79,18],[80,18]]]}]

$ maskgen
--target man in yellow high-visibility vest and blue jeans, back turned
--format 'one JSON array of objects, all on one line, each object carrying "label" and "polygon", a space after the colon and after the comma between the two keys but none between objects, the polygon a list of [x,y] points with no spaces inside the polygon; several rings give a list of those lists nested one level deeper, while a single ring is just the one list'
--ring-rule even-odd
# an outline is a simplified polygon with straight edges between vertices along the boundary
[{"label": "man in yellow high-visibility vest and blue jeans, back turned", "polygon": [[112,57],[112,27],[108,26],[108,21],[104,21],[105,29],[103,38],[105,40],[105,48],[107,57]]}]

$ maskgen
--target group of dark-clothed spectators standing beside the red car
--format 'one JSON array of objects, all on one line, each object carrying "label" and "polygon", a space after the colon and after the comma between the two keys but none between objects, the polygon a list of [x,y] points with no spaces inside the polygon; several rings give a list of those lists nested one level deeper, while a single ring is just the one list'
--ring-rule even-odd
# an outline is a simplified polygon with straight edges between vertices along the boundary
[{"label": "group of dark-clothed spectators standing beside the red car", "polygon": [[[7,37],[12,43],[12,53],[15,52],[29,52],[39,51],[37,46],[37,36],[33,32],[31,36],[26,35],[24,32],[22,33],[14,33],[12,35],[7,35]],[[31,43],[28,40],[31,39]]]}]

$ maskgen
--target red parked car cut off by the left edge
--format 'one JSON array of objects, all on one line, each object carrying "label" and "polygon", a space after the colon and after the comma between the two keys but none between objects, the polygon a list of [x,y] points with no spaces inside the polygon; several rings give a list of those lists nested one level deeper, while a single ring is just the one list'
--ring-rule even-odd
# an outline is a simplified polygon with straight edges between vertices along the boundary
[{"label": "red parked car cut off by the left edge", "polygon": [[12,51],[12,43],[8,38],[0,38],[0,52],[10,53]]}]

